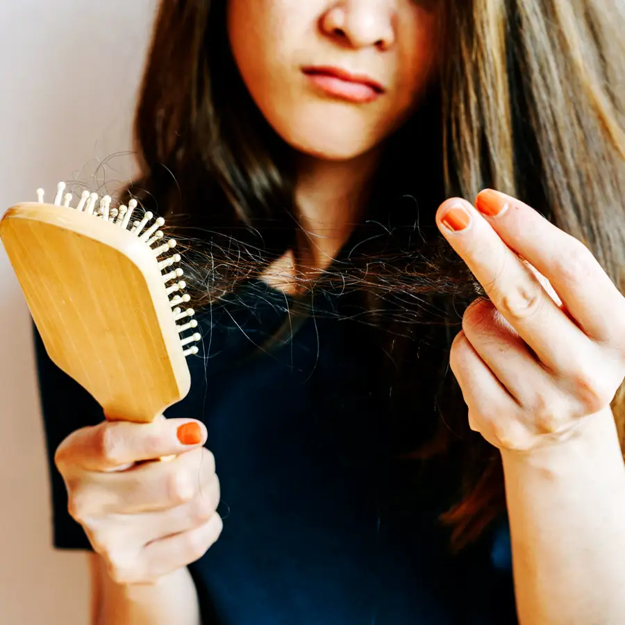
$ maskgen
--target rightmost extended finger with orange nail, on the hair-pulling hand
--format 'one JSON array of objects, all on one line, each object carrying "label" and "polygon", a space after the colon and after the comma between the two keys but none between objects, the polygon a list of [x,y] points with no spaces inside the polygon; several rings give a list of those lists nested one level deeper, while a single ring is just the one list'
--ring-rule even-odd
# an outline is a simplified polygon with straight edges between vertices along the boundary
[{"label": "rightmost extended finger with orange nail, on the hair-pulling hand", "polygon": [[[485,189],[476,208],[510,249],[544,275],[576,323],[591,338],[622,344],[625,298],[591,251],[527,204]],[[498,215],[491,215],[497,213]]]}]

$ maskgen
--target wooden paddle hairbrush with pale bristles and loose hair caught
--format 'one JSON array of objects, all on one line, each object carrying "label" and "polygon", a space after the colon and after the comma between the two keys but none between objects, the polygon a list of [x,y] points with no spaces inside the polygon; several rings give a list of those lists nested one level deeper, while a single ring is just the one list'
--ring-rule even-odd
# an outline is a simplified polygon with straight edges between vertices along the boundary
[{"label": "wooden paddle hairbrush with pale bristles and loose hair caught", "polygon": [[[201,337],[180,281],[165,220],[138,203],[83,191],[78,205],[59,183],[53,204],[19,203],[0,221],[8,253],[44,346],[109,420],[147,423],[190,390],[186,356]],[[189,347],[188,347],[189,346]]]}]

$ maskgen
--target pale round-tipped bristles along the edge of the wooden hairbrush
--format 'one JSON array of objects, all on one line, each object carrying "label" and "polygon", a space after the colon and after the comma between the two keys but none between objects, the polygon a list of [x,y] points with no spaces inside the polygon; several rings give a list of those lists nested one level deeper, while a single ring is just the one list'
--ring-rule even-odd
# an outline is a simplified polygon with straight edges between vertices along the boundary
[{"label": "pale round-tipped bristles along the edge of the wooden hairbrush", "polygon": [[[176,247],[176,240],[165,240],[165,235],[160,227],[165,224],[163,217],[156,217],[149,211],[141,215],[141,219],[132,219],[136,216],[136,209],[138,208],[138,202],[135,199],[131,199],[128,202],[128,206],[121,204],[120,206],[111,206],[112,199],[109,195],[104,195],[99,198],[97,193],[90,193],[84,190],[81,194],[78,204],[73,207],[72,194],[64,193],[67,185],[64,182],[60,182],[56,188],[56,197],[54,198],[54,206],[63,206],[64,208],[71,208],[77,210],[79,213],[87,213],[93,215],[97,219],[109,222],[113,226],[117,226],[127,231],[128,234],[135,235],[140,241],[149,247],[153,253],[158,269],[163,274],[163,285],[165,287],[165,293],[169,298],[174,315],[174,322],[178,328],[178,334],[182,335],[188,330],[197,328],[198,323],[194,317],[195,311],[192,308],[182,310],[179,308],[179,304],[188,303],[190,296],[188,293],[182,291],[186,287],[186,283],[180,280],[184,275],[183,269],[180,267],[174,268],[173,265],[180,263],[181,256],[178,253],[170,254],[174,247]],[[99,203],[98,203],[99,200]],[[37,201],[44,203],[44,190],[37,190]],[[61,203],[63,201],[63,204]],[[132,219],[132,221],[131,221]],[[158,242],[158,246],[153,247],[153,244]],[[170,268],[171,267],[171,268]],[[172,297],[170,297],[172,296]],[[182,324],[178,324],[178,321],[183,321]],[[181,336],[181,347],[183,347],[183,354],[185,356],[192,356],[198,353],[196,345],[192,347],[186,347],[188,344],[197,342],[201,339],[201,335],[198,332],[192,335],[183,337]],[[186,349],[184,349],[186,347]]]}]

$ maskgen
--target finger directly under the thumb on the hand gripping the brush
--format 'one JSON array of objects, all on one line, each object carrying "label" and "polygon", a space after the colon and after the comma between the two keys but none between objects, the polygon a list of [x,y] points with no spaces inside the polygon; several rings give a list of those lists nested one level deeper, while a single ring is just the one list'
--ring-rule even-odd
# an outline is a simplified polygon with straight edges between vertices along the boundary
[{"label": "finger directly under the thumb on the hand gripping the brush", "polygon": [[70,489],[72,509],[81,517],[157,512],[192,501],[215,476],[213,453],[203,447],[171,462],[136,465],[121,473],[90,472]]}]

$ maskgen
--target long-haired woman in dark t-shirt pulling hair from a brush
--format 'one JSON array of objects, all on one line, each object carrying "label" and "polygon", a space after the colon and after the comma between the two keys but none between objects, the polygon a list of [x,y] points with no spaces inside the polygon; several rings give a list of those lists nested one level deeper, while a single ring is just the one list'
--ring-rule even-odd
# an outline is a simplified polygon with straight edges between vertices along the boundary
[{"label": "long-haired woman in dark t-shirt pulling hair from a brush", "polygon": [[623,26],[163,1],[129,191],[192,240],[192,392],[102,422],[38,342],[94,622],[625,622]]}]

